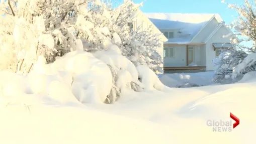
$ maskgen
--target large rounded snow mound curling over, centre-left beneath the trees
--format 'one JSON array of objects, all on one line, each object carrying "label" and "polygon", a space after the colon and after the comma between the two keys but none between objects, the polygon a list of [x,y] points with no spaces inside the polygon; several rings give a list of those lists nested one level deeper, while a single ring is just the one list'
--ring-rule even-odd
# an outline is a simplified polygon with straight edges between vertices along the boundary
[{"label": "large rounded snow mound curling over, centre-left beneath the trees", "polygon": [[[87,52],[70,52],[57,59],[51,68],[72,76],[72,92],[82,103],[102,103],[110,93],[112,74],[109,67]],[[69,82],[70,83],[70,82]]]}]

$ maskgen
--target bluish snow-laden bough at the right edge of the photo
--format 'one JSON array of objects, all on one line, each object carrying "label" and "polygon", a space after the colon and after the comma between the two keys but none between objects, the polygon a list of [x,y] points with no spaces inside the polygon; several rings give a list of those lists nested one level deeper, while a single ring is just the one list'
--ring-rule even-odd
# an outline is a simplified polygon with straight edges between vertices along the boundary
[{"label": "bluish snow-laden bough at the right edge of the photo", "polygon": [[240,64],[233,70],[232,78],[241,79],[244,74],[256,70],[256,54],[249,54]]}]

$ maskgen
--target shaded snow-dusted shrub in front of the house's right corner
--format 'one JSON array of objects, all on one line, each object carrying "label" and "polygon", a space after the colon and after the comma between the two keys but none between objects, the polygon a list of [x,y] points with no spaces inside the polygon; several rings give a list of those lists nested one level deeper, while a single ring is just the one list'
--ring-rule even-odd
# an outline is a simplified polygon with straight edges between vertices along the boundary
[{"label": "shaded snow-dusted shrub in front of the house's right corner", "polygon": [[245,52],[234,49],[222,51],[220,56],[214,60],[217,69],[213,81],[222,84],[233,82],[233,70],[246,56]]}]

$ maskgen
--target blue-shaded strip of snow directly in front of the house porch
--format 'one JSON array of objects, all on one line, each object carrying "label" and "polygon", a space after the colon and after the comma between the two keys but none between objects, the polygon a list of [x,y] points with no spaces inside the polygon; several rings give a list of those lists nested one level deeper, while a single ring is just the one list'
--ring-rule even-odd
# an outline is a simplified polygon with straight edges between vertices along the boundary
[{"label": "blue-shaded strip of snow directly in front of the house porch", "polygon": [[165,73],[158,75],[168,87],[197,87],[213,84],[214,71],[198,73]]}]

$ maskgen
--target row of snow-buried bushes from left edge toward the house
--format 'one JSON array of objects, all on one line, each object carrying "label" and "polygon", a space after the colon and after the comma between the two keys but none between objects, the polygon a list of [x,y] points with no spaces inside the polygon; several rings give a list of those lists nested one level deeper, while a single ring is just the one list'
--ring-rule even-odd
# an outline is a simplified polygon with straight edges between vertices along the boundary
[{"label": "row of snow-buried bushes from left edge toward the house", "polygon": [[0,99],[35,95],[61,104],[114,103],[126,90],[140,92],[164,87],[147,66],[136,68],[113,49],[94,54],[73,51],[51,64],[39,57],[28,75],[0,71],[0,78]]}]

